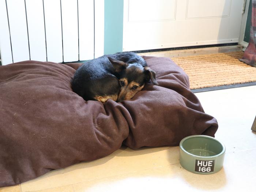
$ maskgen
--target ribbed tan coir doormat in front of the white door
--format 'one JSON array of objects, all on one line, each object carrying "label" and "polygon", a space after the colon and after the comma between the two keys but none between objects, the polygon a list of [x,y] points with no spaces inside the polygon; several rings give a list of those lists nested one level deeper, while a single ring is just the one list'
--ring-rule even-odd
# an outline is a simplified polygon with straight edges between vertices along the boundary
[{"label": "ribbed tan coir doormat in front of the white door", "polygon": [[256,67],[238,60],[243,53],[175,57],[172,60],[188,74],[190,89],[256,82]]}]

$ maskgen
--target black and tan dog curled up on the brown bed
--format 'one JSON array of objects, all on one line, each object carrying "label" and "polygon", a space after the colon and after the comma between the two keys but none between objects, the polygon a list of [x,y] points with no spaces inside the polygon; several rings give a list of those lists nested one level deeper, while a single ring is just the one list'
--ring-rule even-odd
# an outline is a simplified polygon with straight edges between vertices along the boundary
[{"label": "black and tan dog curled up on the brown bed", "polygon": [[121,102],[131,99],[145,83],[158,85],[155,72],[133,52],[120,52],[86,61],[75,72],[71,87],[84,100]]}]

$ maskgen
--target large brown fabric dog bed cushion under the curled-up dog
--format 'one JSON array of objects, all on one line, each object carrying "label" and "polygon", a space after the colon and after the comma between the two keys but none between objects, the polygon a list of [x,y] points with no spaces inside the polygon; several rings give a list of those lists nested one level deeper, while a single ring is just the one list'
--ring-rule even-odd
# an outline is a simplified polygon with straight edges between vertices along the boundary
[{"label": "large brown fabric dog bed cushion under the curled-up dog", "polygon": [[0,67],[0,187],[109,155],[122,144],[177,146],[188,135],[214,136],[218,124],[172,60],[144,57],[159,86],[130,101],[84,101],[70,79],[81,64],[23,61]]}]

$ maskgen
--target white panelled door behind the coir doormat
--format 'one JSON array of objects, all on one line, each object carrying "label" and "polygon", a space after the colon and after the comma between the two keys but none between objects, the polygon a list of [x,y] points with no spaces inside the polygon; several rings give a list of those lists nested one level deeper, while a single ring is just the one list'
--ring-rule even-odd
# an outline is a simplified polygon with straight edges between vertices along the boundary
[{"label": "white panelled door behind the coir doormat", "polygon": [[238,42],[244,0],[124,0],[123,51]]}]

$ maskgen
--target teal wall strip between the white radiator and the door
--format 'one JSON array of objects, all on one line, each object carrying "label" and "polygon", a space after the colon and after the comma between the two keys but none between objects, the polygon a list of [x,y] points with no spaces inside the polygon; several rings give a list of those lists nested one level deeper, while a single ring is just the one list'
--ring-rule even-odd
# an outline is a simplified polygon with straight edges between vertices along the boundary
[{"label": "teal wall strip between the white radiator and the door", "polygon": [[105,0],[104,54],[123,50],[123,0]]}]

